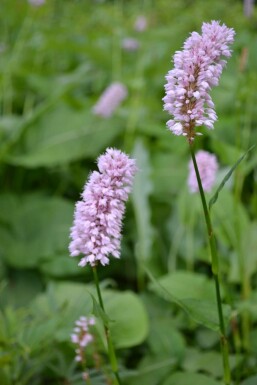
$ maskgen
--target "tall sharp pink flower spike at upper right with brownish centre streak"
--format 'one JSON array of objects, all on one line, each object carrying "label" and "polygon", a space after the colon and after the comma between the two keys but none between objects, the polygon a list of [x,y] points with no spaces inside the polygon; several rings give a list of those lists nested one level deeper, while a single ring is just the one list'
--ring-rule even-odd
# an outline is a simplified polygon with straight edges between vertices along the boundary
[{"label": "tall sharp pink flower spike at upper right with brownish centre streak", "polygon": [[217,116],[209,91],[217,86],[229,57],[234,30],[217,21],[203,23],[202,35],[193,32],[185,41],[183,51],[174,55],[174,69],[166,76],[164,110],[173,115],[167,126],[175,135],[196,135],[195,127],[213,128]]}]

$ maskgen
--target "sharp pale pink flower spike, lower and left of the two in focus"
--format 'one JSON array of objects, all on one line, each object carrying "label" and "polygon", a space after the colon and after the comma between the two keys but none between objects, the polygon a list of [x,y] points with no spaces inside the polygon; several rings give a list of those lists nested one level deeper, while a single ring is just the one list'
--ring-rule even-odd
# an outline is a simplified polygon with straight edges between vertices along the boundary
[{"label": "sharp pale pink flower spike, lower and left of the two in focus", "polygon": [[71,256],[84,255],[79,266],[109,263],[120,257],[122,218],[132,188],[136,164],[123,152],[108,148],[77,202],[71,228]]}]

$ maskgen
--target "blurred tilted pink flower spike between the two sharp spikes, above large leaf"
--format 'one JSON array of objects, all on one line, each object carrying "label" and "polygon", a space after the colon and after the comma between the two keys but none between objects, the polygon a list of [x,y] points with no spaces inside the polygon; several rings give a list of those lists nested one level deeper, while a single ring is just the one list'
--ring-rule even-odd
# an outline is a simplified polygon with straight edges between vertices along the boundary
[{"label": "blurred tilted pink flower spike between the two sharp spikes, above large leaf", "polygon": [[103,118],[109,118],[127,95],[128,91],[124,84],[112,83],[93,107],[93,113]]}]

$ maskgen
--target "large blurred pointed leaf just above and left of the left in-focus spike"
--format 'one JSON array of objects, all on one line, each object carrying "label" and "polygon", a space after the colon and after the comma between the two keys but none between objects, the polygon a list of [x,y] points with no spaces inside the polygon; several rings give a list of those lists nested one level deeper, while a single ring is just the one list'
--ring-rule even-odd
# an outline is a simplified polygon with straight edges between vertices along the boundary
[{"label": "large blurred pointed leaf just above and left of the left in-focus spike", "polygon": [[31,123],[8,162],[35,168],[97,157],[121,132],[121,125],[116,118],[94,116],[91,107],[75,110],[59,103]]}]

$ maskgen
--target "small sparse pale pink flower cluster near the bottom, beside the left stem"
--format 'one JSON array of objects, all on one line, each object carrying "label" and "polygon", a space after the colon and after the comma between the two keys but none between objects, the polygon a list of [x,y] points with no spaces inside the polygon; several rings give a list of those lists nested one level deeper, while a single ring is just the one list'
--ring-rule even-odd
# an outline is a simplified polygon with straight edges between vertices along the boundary
[{"label": "small sparse pale pink flower cluster near the bottom, beside the left stem", "polygon": [[83,362],[84,348],[94,340],[93,335],[89,331],[89,327],[95,325],[95,319],[93,317],[87,318],[81,316],[75,322],[75,325],[76,326],[73,329],[73,333],[71,334],[71,341],[77,345],[75,350],[75,360],[78,362]]}]

